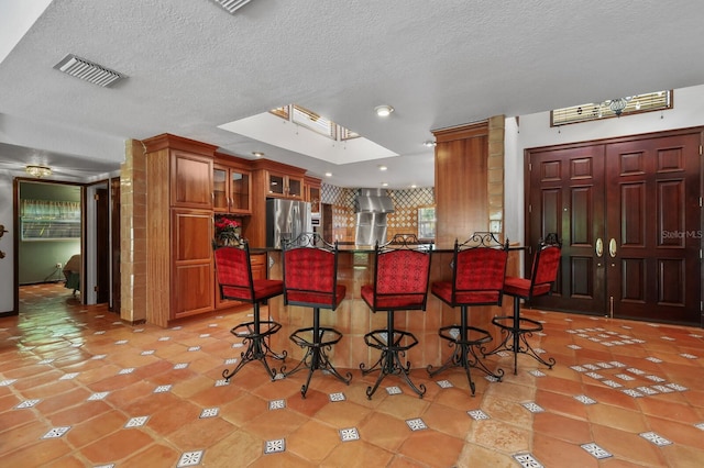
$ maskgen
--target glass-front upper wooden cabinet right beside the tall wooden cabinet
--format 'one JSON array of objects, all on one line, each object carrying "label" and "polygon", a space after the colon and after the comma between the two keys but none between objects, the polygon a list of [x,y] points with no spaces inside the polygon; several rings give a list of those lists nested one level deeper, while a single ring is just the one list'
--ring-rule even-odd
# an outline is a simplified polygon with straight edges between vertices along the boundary
[{"label": "glass-front upper wooden cabinet right beside the tall wooden cabinet", "polygon": [[244,164],[234,158],[216,158],[212,166],[212,209],[219,213],[252,213],[252,172]]}]

